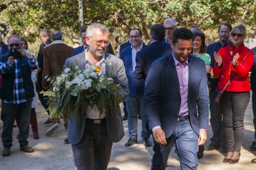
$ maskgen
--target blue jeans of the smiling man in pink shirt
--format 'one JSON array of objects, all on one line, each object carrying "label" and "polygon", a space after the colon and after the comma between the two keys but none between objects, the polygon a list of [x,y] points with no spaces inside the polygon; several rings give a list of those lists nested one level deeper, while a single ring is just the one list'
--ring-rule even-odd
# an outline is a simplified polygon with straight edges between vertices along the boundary
[{"label": "blue jeans of the smiling man in pink shirt", "polygon": [[[154,141],[155,142],[155,141]],[[167,145],[155,142],[151,170],[164,170],[173,144],[176,144],[181,169],[197,169],[198,135],[190,125],[189,119],[178,121]]]}]

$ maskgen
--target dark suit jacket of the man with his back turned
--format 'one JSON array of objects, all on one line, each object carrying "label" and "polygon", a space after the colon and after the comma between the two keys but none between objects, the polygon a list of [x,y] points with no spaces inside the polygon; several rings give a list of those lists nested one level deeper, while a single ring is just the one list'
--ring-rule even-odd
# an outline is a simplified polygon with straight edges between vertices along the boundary
[{"label": "dark suit jacket of the man with his back turned", "polygon": [[163,41],[155,41],[148,47],[142,49],[142,51],[137,52],[136,67],[134,70],[135,78],[147,80],[151,63],[169,52],[171,52],[170,44]]}]

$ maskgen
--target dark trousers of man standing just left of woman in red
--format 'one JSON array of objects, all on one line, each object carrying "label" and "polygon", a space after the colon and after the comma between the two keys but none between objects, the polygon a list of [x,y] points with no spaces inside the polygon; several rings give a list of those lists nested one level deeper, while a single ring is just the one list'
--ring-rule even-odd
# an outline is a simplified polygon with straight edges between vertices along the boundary
[{"label": "dark trousers of man standing just left of woman in red", "polygon": [[221,144],[222,147],[226,146],[226,139],[224,134],[224,123],[223,117],[221,114],[220,103],[217,103],[213,100],[213,96],[215,91],[209,92],[209,99],[210,99],[210,123],[211,123],[211,130],[213,131],[213,137],[211,137],[210,141],[213,144]]}]

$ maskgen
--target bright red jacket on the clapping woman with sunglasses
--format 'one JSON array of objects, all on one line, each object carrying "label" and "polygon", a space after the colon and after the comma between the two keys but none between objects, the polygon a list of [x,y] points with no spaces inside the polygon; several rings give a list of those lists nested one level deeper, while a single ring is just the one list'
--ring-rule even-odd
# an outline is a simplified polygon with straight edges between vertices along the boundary
[{"label": "bright red jacket on the clapping woman with sunglasses", "polygon": [[[221,55],[221,58],[223,60],[222,67],[218,68],[216,65],[217,64],[216,62],[215,62],[215,66],[213,67],[214,75],[220,76],[218,80],[218,89],[223,90],[224,86],[229,81],[229,77],[232,76],[234,72],[236,72],[236,75],[231,80],[231,83],[226,87],[224,91],[231,91],[231,92],[249,92],[250,91],[249,71],[250,71],[250,68],[252,68],[252,64],[254,63],[254,52],[252,51],[250,53],[249,52],[250,52],[250,49],[245,47],[244,44],[236,48],[234,48],[231,44],[229,44],[228,46],[222,47],[220,49],[218,54]],[[234,55],[236,55],[237,53],[240,55],[240,57],[237,60],[236,67],[234,67],[232,60]],[[242,63],[242,60],[244,59],[245,55],[247,55],[247,57]]]}]

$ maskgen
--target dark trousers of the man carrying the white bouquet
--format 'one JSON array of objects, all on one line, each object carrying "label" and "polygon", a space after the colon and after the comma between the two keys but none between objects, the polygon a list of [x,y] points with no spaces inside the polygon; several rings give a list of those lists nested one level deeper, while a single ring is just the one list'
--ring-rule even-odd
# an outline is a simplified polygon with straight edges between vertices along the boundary
[{"label": "dark trousers of the man carrying the white bouquet", "polygon": [[106,129],[106,118],[100,124],[87,119],[82,139],[79,144],[72,145],[77,170],[107,169],[112,145]]}]

